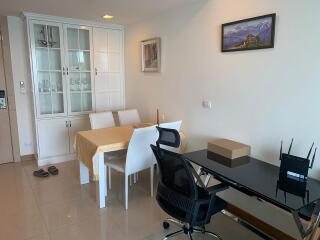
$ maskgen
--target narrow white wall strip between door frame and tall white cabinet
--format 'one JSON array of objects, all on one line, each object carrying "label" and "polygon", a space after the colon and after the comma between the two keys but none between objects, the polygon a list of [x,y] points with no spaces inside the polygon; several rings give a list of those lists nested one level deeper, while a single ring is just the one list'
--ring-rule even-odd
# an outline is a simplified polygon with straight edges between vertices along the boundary
[{"label": "narrow white wall strip between door frame and tall white cabinet", "polygon": [[[21,18],[8,17],[12,73],[16,100],[20,155],[35,153],[33,128],[33,103],[26,28]],[[20,81],[26,92],[20,92]]]}]

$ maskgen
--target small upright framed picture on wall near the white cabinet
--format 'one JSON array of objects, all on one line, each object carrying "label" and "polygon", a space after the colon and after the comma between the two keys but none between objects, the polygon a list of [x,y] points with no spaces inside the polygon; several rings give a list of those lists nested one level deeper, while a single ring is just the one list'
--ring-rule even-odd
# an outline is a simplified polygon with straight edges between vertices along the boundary
[{"label": "small upright framed picture on wall near the white cabinet", "polygon": [[141,71],[161,71],[161,39],[159,37],[141,42]]}]

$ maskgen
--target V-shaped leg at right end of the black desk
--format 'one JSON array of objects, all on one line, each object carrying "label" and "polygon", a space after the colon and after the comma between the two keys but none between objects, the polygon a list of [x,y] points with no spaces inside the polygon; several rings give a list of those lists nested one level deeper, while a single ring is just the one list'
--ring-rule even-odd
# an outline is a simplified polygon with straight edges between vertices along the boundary
[{"label": "V-shaped leg at right end of the black desk", "polygon": [[311,216],[310,225],[308,226],[307,229],[304,229],[298,212],[292,211],[292,215],[293,215],[294,221],[297,224],[301,237],[308,240],[313,240],[320,223],[320,201],[316,203],[316,206]]}]

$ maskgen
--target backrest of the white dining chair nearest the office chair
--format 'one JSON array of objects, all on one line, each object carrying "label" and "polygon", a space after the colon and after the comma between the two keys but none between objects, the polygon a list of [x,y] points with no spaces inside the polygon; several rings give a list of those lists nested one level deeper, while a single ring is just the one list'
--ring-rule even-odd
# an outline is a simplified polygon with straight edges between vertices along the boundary
[{"label": "backrest of the white dining chair nearest the office chair", "polygon": [[158,138],[155,126],[135,129],[127,151],[126,172],[135,173],[155,164],[155,158],[150,148]]}]

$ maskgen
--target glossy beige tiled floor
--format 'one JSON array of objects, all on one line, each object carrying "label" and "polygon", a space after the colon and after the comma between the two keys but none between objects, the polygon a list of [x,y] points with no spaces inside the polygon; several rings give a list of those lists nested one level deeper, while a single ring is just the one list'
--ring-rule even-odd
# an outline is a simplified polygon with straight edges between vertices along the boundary
[{"label": "glossy beige tiled floor", "polygon": [[[177,230],[162,227],[166,214],[150,196],[149,171],[129,188],[126,211],[123,174],[113,172],[107,207],[99,209],[96,184],[79,184],[78,161],[56,166],[59,175],[44,179],[33,176],[38,167],[32,161],[0,166],[0,240],[158,240]],[[223,239],[259,239],[222,215],[213,220],[207,228]]]}]

